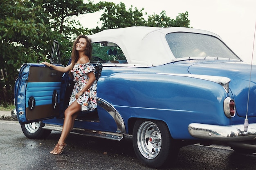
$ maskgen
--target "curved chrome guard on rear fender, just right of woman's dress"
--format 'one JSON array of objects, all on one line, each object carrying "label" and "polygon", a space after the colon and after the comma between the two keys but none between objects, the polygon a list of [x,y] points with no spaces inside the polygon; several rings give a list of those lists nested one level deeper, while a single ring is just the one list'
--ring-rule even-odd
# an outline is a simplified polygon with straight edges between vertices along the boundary
[{"label": "curved chrome guard on rear fender, just right of woman's dress", "polygon": [[113,105],[111,105],[106,100],[103,100],[102,98],[97,98],[97,105],[105,109],[115,120],[117,124],[117,133],[126,133],[126,129],[124,126],[124,120],[120,113],[115,109]]}]

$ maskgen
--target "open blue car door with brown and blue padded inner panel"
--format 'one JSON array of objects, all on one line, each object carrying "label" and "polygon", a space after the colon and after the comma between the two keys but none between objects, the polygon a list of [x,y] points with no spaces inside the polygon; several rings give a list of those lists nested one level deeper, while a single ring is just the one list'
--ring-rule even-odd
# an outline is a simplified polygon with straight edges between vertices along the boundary
[{"label": "open blue car door with brown and blue padded inner panel", "polygon": [[[58,41],[54,41],[51,63],[60,64]],[[38,63],[24,63],[15,83],[15,103],[20,124],[59,115],[63,73]]]}]

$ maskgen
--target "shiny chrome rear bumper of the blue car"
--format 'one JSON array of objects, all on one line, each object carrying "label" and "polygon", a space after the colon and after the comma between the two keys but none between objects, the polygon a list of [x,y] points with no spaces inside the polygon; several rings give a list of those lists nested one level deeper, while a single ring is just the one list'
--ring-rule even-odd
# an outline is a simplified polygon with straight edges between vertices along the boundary
[{"label": "shiny chrome rear bumper of the blue car", "polygon": [[211,124],[191,123],[189,134],[200,139],[209,139],[225,142],[246,141],[256,138],[256,123],[249,124],[247,132],[244,125],[219,126]]}]

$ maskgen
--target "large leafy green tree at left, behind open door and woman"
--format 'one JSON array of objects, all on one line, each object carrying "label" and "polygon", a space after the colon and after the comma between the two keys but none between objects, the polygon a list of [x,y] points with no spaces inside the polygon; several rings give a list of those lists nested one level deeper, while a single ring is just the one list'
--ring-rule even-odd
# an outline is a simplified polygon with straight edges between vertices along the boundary
[{"label": "large leafy green tree at left, behind open door and woman", "polygon": [[22,63],[49,59],[52,40],[61,46],[63,63],[72,41],[86,29],[72,16],[99,11],[108,2],[83,0],[0,0],[0,101],[12,102],[17,69]]}]

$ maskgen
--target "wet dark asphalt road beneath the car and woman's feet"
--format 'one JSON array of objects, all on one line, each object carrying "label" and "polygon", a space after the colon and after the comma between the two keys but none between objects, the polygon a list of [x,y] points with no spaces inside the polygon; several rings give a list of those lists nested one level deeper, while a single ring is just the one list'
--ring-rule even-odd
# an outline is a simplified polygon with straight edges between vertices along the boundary
[{"label": "wet dark asphalt road beneath the car and woman's feet", "polygon": [[[67,150],[51,155],[60,132],[47,139],[28,139],[16,121],[0,120],[0,170],[151,170],[141,164],[132,140],[123,142],[70,134]],[[165,169],[255,170],[256,155],[235,153],[229,147],[191,145],[180,149],[177,161]]]}]

